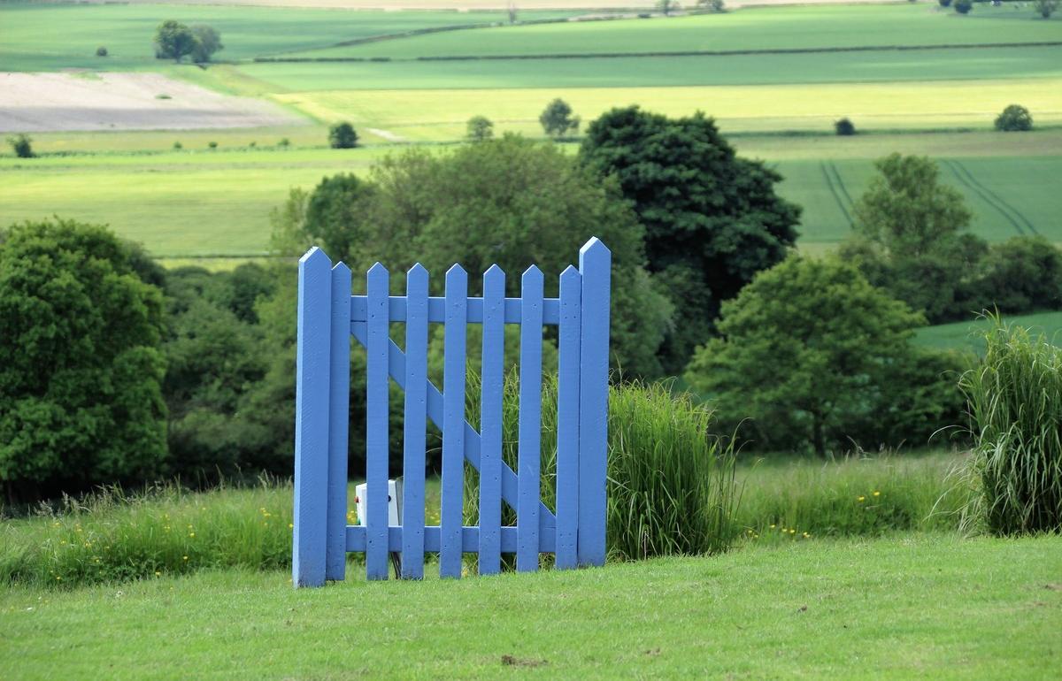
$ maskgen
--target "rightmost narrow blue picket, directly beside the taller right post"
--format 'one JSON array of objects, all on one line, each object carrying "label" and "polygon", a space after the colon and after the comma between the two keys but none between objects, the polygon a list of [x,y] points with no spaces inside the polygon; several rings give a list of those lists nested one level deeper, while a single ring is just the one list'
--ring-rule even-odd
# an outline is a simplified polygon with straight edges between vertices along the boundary
[{"label": "rightmost narrow blue picket, directly beside the taller right post", "polygon": [[579,529],[579,339],[582,333],[582,276],[561,274],[561,328],[556,396],[556,566],[577,565]]}]

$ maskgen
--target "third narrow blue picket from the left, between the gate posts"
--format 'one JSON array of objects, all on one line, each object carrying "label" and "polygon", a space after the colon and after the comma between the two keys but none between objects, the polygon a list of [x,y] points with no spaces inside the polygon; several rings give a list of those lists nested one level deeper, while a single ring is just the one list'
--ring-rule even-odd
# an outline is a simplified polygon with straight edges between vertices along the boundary
[{"label": "third narrow blue picket from the left, between the gate posts", "polygon": [[424,467],[428,415],[428,270],[406,275],[406,421],[402,452],[401,576],[424,578]]}]

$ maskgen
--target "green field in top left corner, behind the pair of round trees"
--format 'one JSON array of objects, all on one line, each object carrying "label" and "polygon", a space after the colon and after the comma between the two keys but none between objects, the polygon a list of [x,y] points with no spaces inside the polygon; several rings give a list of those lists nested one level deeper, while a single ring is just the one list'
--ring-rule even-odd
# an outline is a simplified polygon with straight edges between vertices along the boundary
[{"label": "green field in top left corner, behind the pair of round trees", "polygon": [[[527,13],[536,18],[537,13]],[[547,12],[542,16],[563,16]],[[493,23],[502,12],[372,12],[236,7],[221,5],[33,3],[0,4],[0,71],[63,68],[134,70],[156,68],[152,37],[165,19],[206,23],[221,33],[222,60],[247,59],[344,40],[468,23]],[[109,56],[100,58],[96,48]]]}]

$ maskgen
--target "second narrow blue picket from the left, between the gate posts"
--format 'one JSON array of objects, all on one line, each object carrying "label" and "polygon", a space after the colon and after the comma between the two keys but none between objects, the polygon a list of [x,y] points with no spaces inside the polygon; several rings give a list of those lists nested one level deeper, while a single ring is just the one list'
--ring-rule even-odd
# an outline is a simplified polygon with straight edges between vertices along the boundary
[{"label": "second narrow blue picket from the left, between the gate posts", "polygon": [[365,357],[365,575],[388,578],[388,289],[380,263],[369,270]]}]

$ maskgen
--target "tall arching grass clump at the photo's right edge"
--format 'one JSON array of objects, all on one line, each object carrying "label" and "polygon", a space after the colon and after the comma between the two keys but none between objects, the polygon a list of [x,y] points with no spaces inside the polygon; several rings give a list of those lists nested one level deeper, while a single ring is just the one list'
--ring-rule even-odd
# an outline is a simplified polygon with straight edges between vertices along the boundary
[{"label": "tall arching grass clump at the photo's right edge", "polygon": [[964,518],[995,535],[1062,529],[1062,350],[990,315],[986,353],[966,371],[979,493]]}]

